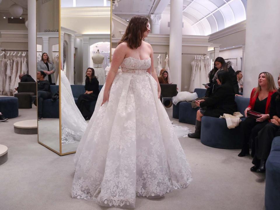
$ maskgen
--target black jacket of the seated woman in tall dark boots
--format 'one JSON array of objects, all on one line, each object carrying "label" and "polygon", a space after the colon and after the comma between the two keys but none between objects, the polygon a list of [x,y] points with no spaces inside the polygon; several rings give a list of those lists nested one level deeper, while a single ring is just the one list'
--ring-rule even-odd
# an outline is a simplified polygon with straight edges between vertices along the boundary
[{"label": "black jacket of the seated woman in tall dark boots", "polygon": [[204,115],[210,117],[220,117],[224,113],[233,114],[236,112],[237,105],[232,84],[227,82],[223,85],[217,85],[213,94],[200,103],[200,107],[206,108]]}]

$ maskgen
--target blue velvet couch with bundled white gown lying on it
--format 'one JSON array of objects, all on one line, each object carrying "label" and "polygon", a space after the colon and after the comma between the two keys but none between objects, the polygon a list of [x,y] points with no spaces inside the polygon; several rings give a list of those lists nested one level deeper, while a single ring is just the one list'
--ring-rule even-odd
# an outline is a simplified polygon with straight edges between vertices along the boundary
[{"label": "blue velvet couch with bundled white gown lying on it", "polygon": [[[199,98],[204,97],[206,89],[195,88],[194,92],[197,93]],[[181,112],[180,109],[182,108]],[[173,104],[173,118],[179,119],[179,122],[195,125],[196,111],[198,108],[192,108],[191,103],[181,101],[178,104]],[[195,116],[193,120],[193,116]]]}]

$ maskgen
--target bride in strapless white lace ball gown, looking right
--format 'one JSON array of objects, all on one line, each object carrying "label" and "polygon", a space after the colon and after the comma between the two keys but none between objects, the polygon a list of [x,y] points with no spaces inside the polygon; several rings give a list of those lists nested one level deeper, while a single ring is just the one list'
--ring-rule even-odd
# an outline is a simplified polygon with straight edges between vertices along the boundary
[{"label": "bride in strapless white lace ball gown, looking right", "polygon": [[150,31],[148,21],[133,17],[115,49],[106,84],[76,151],[72,197],[134,208],[136,196],[162,197],[192,181],[159,99],[153,49],[143,41]]}]

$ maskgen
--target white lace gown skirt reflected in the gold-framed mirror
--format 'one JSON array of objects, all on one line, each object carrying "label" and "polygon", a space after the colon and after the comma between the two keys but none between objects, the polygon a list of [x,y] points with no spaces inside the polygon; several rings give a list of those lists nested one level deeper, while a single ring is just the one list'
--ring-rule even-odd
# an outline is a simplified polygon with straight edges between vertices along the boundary
[{"label": "white lace gown skirt reflected in the gold-framed mirror", "polygon": [[75,143],[81,140],[88,123],[76,106],[71,85],[62,70],[60,79],[62,144]]}]

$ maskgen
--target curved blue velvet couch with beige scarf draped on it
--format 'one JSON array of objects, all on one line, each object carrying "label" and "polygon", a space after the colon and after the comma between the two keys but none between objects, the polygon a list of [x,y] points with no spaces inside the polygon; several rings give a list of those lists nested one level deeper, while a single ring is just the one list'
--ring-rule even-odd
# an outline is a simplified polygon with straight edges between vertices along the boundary
[{"label": "curved blue velvet couch with beige scarf draped on it", "polygon": [[[236,96],[235,101],[237,111],[244,115],[250,99]],[[245,118],[241,118],[241,120],[245,120]],[[240,126],[228,129],[225,119],[209,116],[202,117],[200,140],[206,146],[220,149],[240,149],[242,146]]]}]

